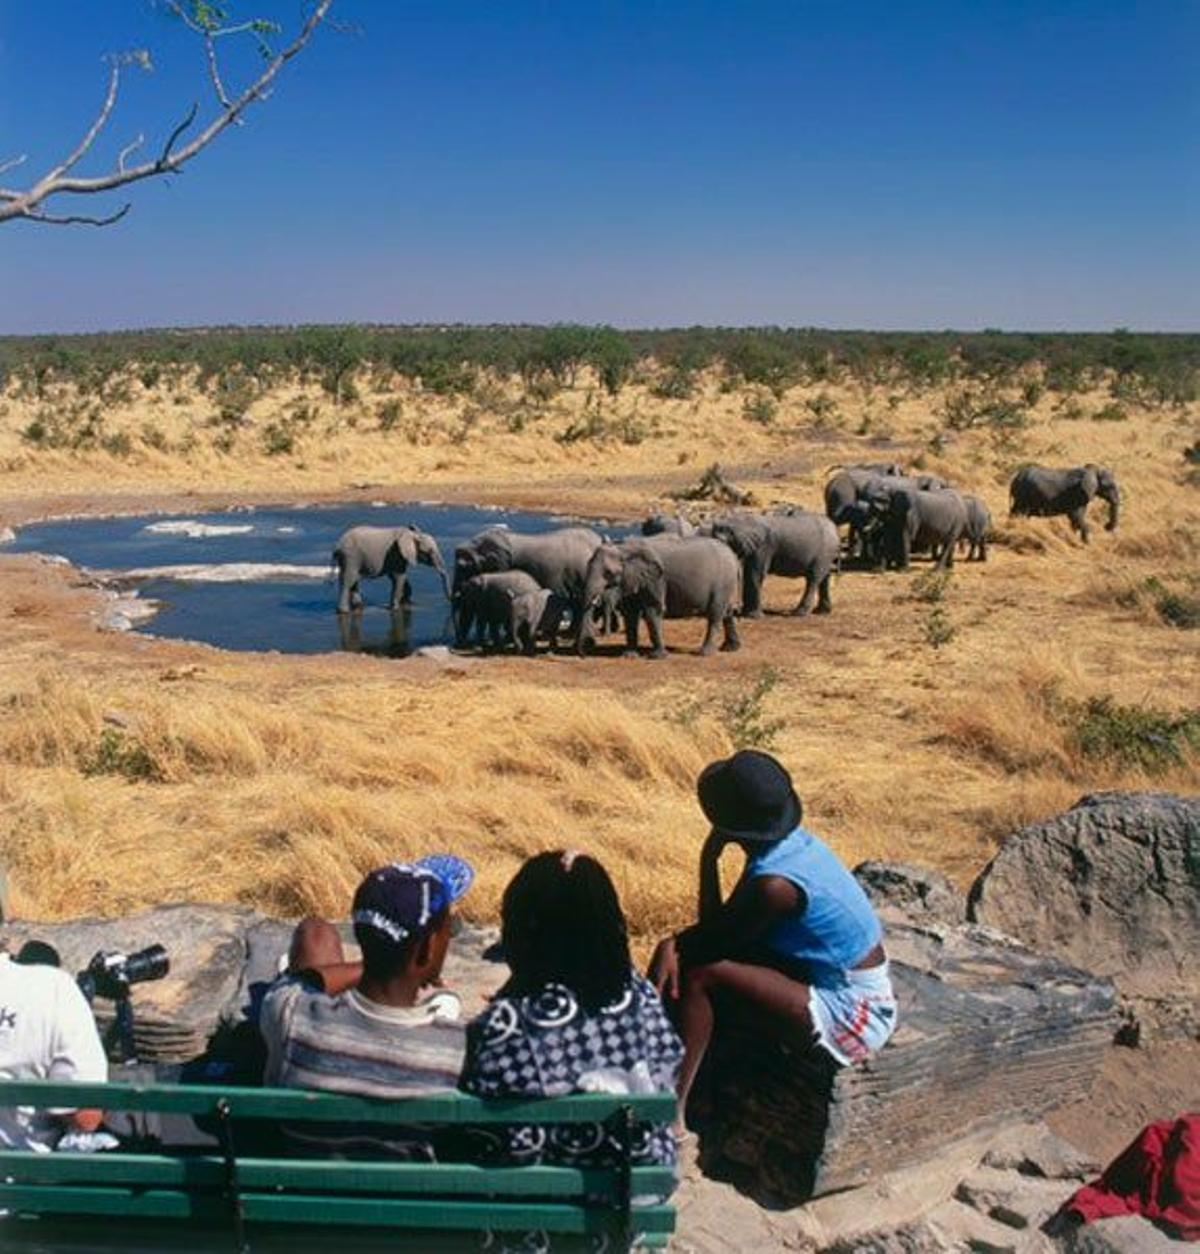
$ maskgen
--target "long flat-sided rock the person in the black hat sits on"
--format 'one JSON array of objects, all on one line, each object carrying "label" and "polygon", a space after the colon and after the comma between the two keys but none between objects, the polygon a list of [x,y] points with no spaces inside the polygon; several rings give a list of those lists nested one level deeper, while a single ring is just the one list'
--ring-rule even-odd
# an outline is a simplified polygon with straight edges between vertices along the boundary
[{"label": "long flat-sided rock the person in the black hat sits on", "polygon": [[864,1066],[718,1023],[707,1170],[795,1204],[1087,1095],[1116,1023],[1107,981],[983,928],[892,924],[887,944],[899,1027]]}]

